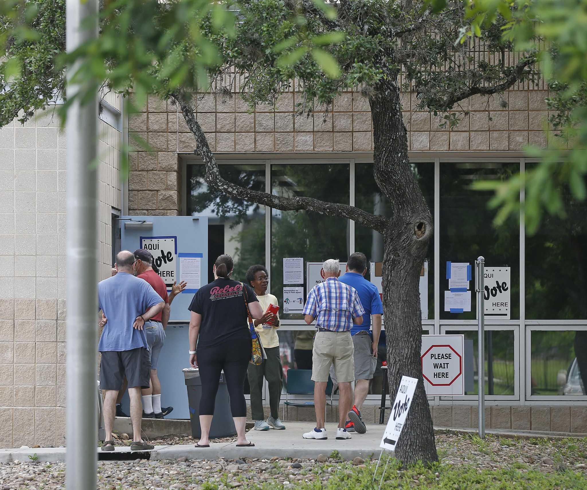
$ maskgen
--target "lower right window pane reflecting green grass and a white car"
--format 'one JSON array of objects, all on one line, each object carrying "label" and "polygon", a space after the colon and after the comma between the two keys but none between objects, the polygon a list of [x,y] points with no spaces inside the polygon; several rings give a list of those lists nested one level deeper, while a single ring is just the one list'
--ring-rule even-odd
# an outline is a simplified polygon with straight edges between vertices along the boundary
[{"label": "lower right window pane reflecting green grass and a white car", "polygon": [[531,333],[531,393],[585,395],[587,386],[587,331]]}]

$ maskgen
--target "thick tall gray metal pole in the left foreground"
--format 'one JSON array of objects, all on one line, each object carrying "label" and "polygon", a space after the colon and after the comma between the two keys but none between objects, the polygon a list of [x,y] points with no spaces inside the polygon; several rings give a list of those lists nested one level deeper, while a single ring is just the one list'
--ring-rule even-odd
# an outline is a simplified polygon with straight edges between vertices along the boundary
[{"label": "thick tall gray metal pole in the left foreground", "polygon": [[[66,49],[97,38],[97,0],[67,0]],[[92,19],[88,24],[87,18]],[[68,67],[68,97],[79,65]],[[69,490],[94,490],[97,480],[97,93],[68,110],[67,141],[67,456]]]}]

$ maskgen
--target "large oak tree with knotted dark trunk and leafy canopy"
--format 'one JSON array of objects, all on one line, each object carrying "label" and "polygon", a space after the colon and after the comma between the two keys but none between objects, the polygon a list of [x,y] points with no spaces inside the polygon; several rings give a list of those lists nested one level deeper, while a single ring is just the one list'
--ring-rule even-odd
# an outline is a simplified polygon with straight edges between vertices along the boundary
[{"label": "large oak tree with knotted dark trunk and leafy canopy", "polygon": [[[63,59],[56,56],[65,46],[63,0],[8,3],[34,4],[36,9],[2,19],[33,26],[29,37],[0,39],[8,45],[8,60],[19,64],[11,85],[6,73],[0,79],[0,125],[18,114],[29,119],[56,92],[66,95]],[[128,92],[133,87],[139,96],[155,92],[178,105],[211,187],[283,211],[305,209],[352,219],[383,235],[389,391],[393,397],[403,375],[420,380],[396,447],[396,457],[406,464],[438,457],[420,364],[419,278],[433,218],[410,164],[401,95],[415,94],[421,110],[454,127],[464,112],[461,101],[474,95],[498,97],[532,77],[536,60],[529,50],[510,64],[512,44],[501,36],[505,21],[499,17],[480,29],[477,39],[455,45],[464,9],[460,2],[412,0],[227,0],[213,8],[207,0],[119,0],[104,2],[100,42],[80,49],[95,61],[83,65],[79,74],[87,77],[90,89],[105,84]],[[35,32],[51,35],[45,39]],[[212,80],[209,87],[203,70]],[[268,194],[222,178],[193,101],[198,91],[230,92],[223,80],[230,83],[235,73],[244,74],[241,96],[251,107],[275,103],[282,90],[295,85],[303,94],[299,117],[320,117],[343,91],[362,92],[373,121],[374,177],[389,202],[389,217],[311,195]]]}]

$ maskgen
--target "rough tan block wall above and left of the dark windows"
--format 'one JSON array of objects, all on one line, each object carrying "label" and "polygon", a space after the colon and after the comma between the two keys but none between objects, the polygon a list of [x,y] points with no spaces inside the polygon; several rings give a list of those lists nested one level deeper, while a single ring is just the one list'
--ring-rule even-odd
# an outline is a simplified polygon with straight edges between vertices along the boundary
[{"label": "rough tan block wall above and left of the dark windows", "polygon": [[[403,93],[402,106],[410,151],[519,151],[527,144],[545,146],[548,118],[546,90],[512,90],[503,96],[474,96],[456,107],[463,113],[454,130],[439,126],[440,116],[416,110],[416,94]],[[275,109],[257,106],[252,113],[233,93],[195,98],[197,120],[212,151],[329,152],[373,151],[369,103],[360,93],[343,93],[326,113],[295,116],[299,92],[281,94]],[[502,107],[502,101],[508,105]],[[130,214],[175,215],[180,211],[181,175],[177,153],[191,153],[194,138],[171,103],[150,96],[142,111],[129,118],[130,141],[138,135],[153,153],[130,156]]]}]

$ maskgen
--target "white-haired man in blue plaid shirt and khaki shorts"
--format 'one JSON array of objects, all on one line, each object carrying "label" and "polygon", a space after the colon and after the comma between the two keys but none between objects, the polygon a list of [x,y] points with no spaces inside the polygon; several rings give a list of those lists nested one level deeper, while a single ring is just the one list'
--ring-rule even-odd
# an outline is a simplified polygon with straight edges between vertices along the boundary
[{"label": "white-haired man in blue plaid shirt and khaki shorts", "polygon": [[314,381],[314,407],[316,427],[303,434],[304,439],[327,439],[324,427],[326,409],[326,384],[330,365],[334,364],[340,399],[338,404],[339,424],[337,439],[350,439],[346,431],[346,414],[352,407],[352,388],[355,381],[355,347],[350,329],[363,323],[365,310],[355,288],[338,280],[340,264],[329,259],[322,264],[325,281],[317,284],[308,293],[303,309],[305,320],[310,325],[316,319],[318,332],[314,337],[312,351],[312,380]]}]

